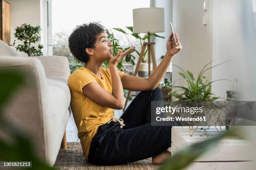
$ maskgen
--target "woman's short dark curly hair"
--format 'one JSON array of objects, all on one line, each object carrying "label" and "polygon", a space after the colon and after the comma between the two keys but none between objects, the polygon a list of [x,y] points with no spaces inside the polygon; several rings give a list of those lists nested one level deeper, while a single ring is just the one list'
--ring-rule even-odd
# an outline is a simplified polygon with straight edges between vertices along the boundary
[{"label": "woman's short dark curly hair", "polygon": [[99,23],[77,25],[69,35],[69,49],[77,60],[86,63],[89,55],[86,48],[94,48],[97,35],[104,32],[105,28]]}]

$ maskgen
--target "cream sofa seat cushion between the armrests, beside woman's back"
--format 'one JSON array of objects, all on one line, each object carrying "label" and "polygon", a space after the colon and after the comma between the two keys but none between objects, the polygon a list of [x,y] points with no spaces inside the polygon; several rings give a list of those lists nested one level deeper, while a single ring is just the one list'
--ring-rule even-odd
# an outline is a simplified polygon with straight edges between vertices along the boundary
[{"label": "cream sofa seat cushion between the armrests, beside woman's back", "polygon": [[[46,122],[51,122],[46,138],[51,139],[51,146],[48,147],[48,154],[57,155],[63,138],[63,132],[66,129],[69,120],[70,112],[68,112],[70,104],[70,90],[67,85],[67,79],[64,77],[46,77],[49,97],[47,102],[49,104],[50,114],[46,118]],[[55,161],[55,160],[54,160]]]}]

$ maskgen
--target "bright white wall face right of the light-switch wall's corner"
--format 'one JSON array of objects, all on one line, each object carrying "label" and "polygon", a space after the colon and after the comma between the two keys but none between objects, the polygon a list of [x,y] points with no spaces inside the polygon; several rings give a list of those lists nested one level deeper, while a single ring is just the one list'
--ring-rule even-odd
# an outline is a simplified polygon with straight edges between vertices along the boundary
[{"label": "bright white wall face right of the light-switch wall's corner", "polygon": [[[244,55],[244,44],[241,32],[242,0],[214,0],[212,59],[215,64],[232,60],[213,68],[212,80],[229,79],[234,81],[239,76],[238,58]],[[246,19],[246,18],[243,18]],[[236,90],[236,84],[229,81],[213,83],[212,92],[226,96],[227,90]]]}]

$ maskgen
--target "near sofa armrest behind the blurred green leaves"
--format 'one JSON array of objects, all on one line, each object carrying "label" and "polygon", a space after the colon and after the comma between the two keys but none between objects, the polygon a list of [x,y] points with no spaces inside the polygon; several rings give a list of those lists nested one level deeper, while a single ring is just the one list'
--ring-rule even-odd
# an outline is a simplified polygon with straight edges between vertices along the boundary
[{"label": "near sofa armrest behind the blurred green leaves", "polygon": [[47,161],[46,133],[53,126],[50,120],[49,90],[44,67],[34,57],[0,57],[0,70],[16,70],[24,75],[24,83],[15,89],[3,108],[3,116],[26,130],[36,153]]}]

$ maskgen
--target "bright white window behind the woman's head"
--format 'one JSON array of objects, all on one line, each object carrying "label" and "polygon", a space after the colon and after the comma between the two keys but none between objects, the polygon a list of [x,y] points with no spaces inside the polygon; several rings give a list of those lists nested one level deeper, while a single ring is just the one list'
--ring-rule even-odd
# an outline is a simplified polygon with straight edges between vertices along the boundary
[{"label": "bright white window behind the woman's head", "polygon": [[[76,25],[100,21],[107,29],[122,28],[133,25],[133,9],[150,7],[150,0],[51,0],[51,42],[49,48],[52,54],[62,55],[74,60],[68,48],[68,36]],[[113,30],[115,37],[120,40],[120,45],[128,46],[126,37]],[[49,40],[50,40],[49,39]],[[49,50],[51,51],[51,50]],[[76,67],[76,68],[77,68]],[[76,69],[72,68],[71,69]]]}]

